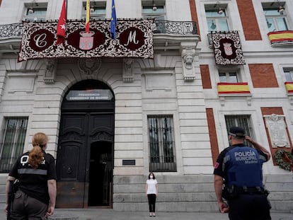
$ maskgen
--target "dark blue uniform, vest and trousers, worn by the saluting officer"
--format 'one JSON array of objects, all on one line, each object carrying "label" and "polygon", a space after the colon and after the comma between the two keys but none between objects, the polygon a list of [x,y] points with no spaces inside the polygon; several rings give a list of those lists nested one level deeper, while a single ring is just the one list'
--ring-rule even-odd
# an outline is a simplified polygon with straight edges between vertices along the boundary
[{"label": "dark blue uniform, vest and trousers, worn by the saluting officer", "polygon": [[266,161],[266,154],[244,144],[229,146],[219,154],[214,175],[224,178],[225,187],[234,193],[234,197],[227,199],[229,219],[271,219],[263,187],[262,166]]}]

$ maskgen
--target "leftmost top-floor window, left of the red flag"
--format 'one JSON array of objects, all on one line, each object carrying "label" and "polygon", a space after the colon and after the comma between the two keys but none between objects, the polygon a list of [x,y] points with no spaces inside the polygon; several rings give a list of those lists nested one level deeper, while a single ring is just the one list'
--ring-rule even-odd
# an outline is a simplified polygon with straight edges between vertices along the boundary
[{"label": "leftmost top-floor window, left of the red flag", "polygon": [[45,21],[47,13],[47,3],[33,3],[25,5],[24,21]]}]

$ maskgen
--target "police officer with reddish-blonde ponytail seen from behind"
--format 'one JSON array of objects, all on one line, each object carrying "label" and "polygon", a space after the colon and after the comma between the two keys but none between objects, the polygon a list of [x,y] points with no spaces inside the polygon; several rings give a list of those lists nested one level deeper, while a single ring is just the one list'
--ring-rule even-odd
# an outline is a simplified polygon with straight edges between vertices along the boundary
[{"label": "police officer with reddish-blonde ponytail seen from behind", "polygon": [[33,149],[18,158],[6,181],[6,213],[10,181],[18,180],[18,190],[11,204],[13,220],[45,219],[54,213],[56,202],[56,170],[54,158],[45,153],[48,137],[34,134]]}]

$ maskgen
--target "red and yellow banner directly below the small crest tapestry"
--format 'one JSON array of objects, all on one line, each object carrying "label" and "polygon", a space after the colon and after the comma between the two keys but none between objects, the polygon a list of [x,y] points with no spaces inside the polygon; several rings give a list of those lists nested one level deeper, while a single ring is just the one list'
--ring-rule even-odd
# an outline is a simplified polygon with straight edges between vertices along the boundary
[{"label": "red and yellow banner directly below the small crest tapestry", "polygon": [[218,93],[251,93],[248,83],[218,83]]}]

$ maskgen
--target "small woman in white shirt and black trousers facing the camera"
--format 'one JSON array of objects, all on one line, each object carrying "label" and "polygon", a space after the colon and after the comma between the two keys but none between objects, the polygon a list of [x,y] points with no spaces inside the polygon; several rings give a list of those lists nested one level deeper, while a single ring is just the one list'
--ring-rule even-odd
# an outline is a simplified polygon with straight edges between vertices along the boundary
[{"label": "small woman in white shirt and black trousers facing the camera", "polygon": [[158,195],[158,182],[154,173],[149,173],[149,179],[146,180],[146,195],[149,201],[149,216],[156,216],[156,196]]}]

